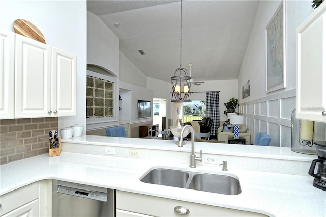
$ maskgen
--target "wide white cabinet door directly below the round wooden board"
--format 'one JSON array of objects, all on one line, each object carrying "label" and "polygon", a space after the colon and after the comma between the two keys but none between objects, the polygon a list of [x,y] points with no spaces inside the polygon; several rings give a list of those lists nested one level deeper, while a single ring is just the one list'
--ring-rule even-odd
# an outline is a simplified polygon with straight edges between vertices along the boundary
[{"label": "wide white cabinet door directly below the round wooden board", "polygon": [[15,118],[51,116],[51,47],[16,34]]}]

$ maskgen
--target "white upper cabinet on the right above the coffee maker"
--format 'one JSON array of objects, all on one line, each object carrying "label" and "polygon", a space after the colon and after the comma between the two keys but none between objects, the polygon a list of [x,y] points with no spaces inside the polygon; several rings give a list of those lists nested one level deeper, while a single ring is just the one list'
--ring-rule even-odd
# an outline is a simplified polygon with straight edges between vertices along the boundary
[{"label": "white upper cabinet on the right above the coffee maker", "polygon": [[296,118],[326,122],[326,3],[296,32]]}]

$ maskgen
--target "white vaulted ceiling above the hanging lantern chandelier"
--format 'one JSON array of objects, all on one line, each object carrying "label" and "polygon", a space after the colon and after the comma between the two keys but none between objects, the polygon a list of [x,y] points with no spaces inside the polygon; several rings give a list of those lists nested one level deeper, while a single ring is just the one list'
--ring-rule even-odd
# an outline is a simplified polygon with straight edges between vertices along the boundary
[{"label": "white vaulted ceiling above the hanging lantern chandelier", "polygon": [[[194,80],[238,78],[258,4],[182,1],[182,67],[192,63]],[[180,8],[169,0],[87,1],[87,10],[120,39],[120,51],[146,76],[166,82],[180,67]]]}]

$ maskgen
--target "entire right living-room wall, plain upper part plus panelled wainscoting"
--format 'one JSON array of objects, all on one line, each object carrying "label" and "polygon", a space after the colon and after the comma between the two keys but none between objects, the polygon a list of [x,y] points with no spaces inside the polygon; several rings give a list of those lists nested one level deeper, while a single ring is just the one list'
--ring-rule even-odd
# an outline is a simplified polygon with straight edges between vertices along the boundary
[{"label": "entire right living-room wall, plain upper part plus panelled wainscoting", "polygon": [[[271,135],[272,146],[291,146],[291,112],[295,108],[296,28],[313,11],[311,1],[286,1],[287,87],[266,93],[265,28],[281,1],[261,1],[238,78],[241,113],[251,133]],[[250,80],[250,96],[242,99],[242,86]]]}]

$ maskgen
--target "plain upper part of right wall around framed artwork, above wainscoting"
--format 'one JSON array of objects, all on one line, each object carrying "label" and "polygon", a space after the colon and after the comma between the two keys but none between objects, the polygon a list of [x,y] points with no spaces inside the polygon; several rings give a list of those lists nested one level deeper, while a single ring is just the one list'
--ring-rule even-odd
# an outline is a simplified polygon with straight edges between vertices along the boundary
[{"label": "plain upper part of right wall around framed artwork, above wainscoting", "polygon": [[[286,1],[286,74],[287,88],[266,93],[265,28],[281,1],[261,1],[248,42],[240,74],[238,95],[240,103],[256,100],[295,88],[296,73],[296,28],[313,11],[311,1]],[[242,99],[242,86],[250,80],[250,96]]]}]

